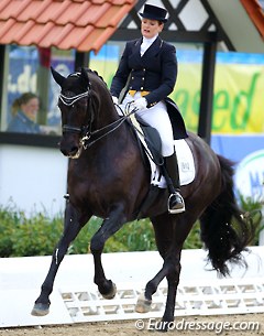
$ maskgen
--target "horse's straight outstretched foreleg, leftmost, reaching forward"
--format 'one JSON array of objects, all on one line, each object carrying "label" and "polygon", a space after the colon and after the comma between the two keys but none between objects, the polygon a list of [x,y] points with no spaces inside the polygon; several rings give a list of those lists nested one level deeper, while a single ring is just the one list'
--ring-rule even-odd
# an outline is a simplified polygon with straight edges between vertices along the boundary
[{"label": "horse's straight outstretched foreleg, leftmost, reaching forward", "polygon": [[67,252],[69,243],[76,238],[81,227],[89,220],[89,218],[90,216],[80,218],[77,210],[70,205],[70,203],[67,204],[64,220],[64,232],[53,252],[51,268],[45,281],[42,284],[41,295],[36,299],[34,307],[31,312],[32,315],[44,316],[48,314],[51,305],[48,297],[53,291],[53,284],[58,267]]}]

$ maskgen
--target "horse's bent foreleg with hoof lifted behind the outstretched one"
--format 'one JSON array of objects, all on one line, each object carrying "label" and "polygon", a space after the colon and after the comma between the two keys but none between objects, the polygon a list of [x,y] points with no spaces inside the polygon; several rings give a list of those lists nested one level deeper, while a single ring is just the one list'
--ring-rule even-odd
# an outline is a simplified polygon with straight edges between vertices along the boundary
[{"label": "horse's bent foreleg with hoof lifted behind the outstretched one", "polygon": [[116,234],[127,220],[123,215],[123,207],[116,207],[106,218],[100,229],[91,238],[90,250],[95,262],[95,283],[105,299],[113,299],[117,292],[116,284],[107,280],[101,263],[101,253],[109,237]]}]

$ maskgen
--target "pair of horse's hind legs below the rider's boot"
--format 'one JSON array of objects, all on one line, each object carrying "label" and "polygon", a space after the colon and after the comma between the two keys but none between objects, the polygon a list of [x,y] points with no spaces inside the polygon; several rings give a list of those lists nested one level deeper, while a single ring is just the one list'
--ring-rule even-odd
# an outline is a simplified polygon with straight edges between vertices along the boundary
[{"label": "pair of horse's hind legs below the rider's boot", "polygon": [[167,301],[161,326],[158,326],[161,330],[166,330],[168,324],[174,321],[182,248],[195,223],[195,216],[187,213],[177,216],[164,214],[152,218],[152,223],[155,229],[157,249],[164,259],[164,263],[160,272],[147,282],[145,292],[136,304],[136,311],[141,313],[150,311],[152,295],[156,292],[161,281],[166,278],[168,284]]}]

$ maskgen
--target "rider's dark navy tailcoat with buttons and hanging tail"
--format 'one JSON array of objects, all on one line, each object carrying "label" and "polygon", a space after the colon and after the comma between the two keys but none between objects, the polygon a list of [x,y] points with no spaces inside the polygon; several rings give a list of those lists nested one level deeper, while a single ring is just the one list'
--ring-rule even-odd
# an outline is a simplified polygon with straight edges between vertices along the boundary
[{"label": "rider's dark navy tailcoat with buttons and hanging tail", "polygon": [[[167,96],[174,90],[177,78],[175,46],[160,36],[140,54],[142,37],[125,44],[118,71],[112,79],[111,95],[119,97],[121,90],[150,91],[145,97],[147,107],[165,100],[172,120],[174,138],[187,138],[185,123],[176,104]],[[129,82],[128,82],[129,78]]]}]

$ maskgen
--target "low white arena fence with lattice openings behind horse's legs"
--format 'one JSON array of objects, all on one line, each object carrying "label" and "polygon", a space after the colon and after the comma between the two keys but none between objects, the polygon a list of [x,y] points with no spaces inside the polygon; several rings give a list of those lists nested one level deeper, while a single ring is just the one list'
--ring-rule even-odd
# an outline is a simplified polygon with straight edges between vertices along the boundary
[{"label": "low white arena fence with lattice openings behind horse's legs", "polygon": [[[210,271],[204,250],[184,250],[175,316],[264,312],[264,247],[252,247],[244,257],[245,271],[234,267],[229,278]],[[139,294],[162,267],[157,252],[105,253],[106,275],[118,288],[105,300],[94,284],[91,254],[66,256],[51,295],[51,312],[31,315],[50,268],[51,257],[0,259],[0,327],[73,324],[161,317],[165,308],[166,280],[153,296],[147,314],[134,312]]]}]

